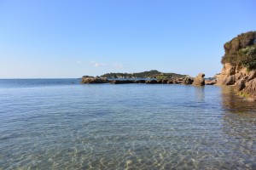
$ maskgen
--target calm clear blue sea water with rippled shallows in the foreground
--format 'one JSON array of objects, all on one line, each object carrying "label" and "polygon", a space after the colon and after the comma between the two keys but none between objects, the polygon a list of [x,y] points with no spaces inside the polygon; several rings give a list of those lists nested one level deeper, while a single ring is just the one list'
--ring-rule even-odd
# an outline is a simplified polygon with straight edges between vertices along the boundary
[{"label": "calm clear blue sea water with rippled shallows in the foreground", "polygon": [[232,88],[0,80],[0,169],[256,169]]}]

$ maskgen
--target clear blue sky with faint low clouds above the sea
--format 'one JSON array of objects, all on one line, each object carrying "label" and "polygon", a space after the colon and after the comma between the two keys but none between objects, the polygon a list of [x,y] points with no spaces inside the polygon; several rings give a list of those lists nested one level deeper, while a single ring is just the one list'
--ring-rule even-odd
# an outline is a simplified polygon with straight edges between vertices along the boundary
[{"label": "clear blue sky with faint low clouds above the sea", "polygon": [[255,0],[0,0],[0,78],[158,70],[212,77]]}]

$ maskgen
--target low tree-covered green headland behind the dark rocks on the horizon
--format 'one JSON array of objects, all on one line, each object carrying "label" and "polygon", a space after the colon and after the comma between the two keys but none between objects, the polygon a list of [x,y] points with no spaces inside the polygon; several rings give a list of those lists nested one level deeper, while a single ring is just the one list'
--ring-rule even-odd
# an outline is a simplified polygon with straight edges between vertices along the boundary
[{"label": "low tree-covered green headland behind the dark rocks on the horizon", "polygon": [[187,75],[180,75],[177,73],[163,73],[160,71],[152,70],[152,71],[143,71],[137,73],[107,73],[102,75],[101,77],[106,78],[157,78],[157,77],[186,77]]}]

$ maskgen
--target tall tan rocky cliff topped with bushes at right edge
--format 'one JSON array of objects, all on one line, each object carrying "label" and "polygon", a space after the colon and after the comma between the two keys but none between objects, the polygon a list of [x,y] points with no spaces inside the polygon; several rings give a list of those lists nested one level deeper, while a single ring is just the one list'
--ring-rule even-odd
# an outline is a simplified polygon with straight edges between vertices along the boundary
[{"label": "tall tan rocky cliff topped with bushes at right edge", "polygon": [[249,31],[224,44],[219,85],[235,86],[238,94],[256,101],[256,31]]}]

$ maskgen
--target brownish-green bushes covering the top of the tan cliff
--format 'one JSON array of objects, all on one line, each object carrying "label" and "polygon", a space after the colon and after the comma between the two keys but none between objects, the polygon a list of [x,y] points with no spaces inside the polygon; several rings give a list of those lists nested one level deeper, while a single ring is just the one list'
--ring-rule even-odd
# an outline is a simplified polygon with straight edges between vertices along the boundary
[{"label": "brownish-green bushes covering the top of the tan cliff", "polygon": [[225,54],[221,63],[242,65],[248,71],[256,69],[256,31],[248,31],[224,44]]}]

